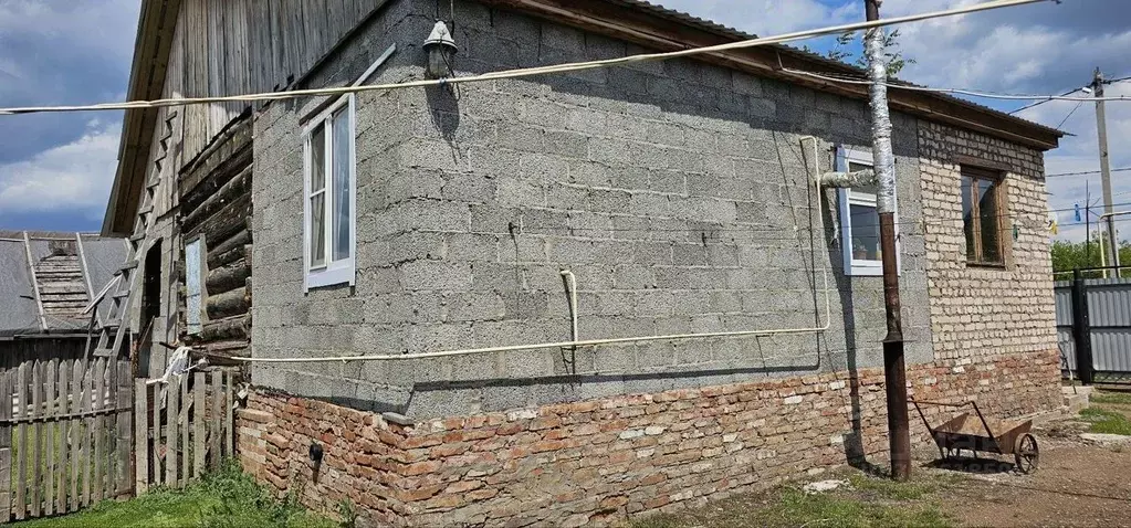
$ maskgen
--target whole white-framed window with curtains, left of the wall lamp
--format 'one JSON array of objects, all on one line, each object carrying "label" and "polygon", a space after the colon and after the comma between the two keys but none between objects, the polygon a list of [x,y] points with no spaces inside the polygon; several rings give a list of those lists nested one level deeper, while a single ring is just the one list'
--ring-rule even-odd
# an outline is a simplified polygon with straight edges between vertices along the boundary
[{"label": "whole white-framed window with curtains, left of the wall lamp", "polygon": [[356,240],[354,96],[342,97],[303,131],[305,287],[353,285]]}]

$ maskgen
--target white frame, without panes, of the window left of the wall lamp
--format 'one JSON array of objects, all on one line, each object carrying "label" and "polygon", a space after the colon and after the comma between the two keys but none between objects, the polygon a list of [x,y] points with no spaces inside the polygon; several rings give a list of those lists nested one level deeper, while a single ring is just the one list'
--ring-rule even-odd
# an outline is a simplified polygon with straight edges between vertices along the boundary
[{"label": "white frame, without panes, of the window left of the wall lamp", "polygon": [[[335,204],[336,189],[334,188],[334,114],[342,109],[345,110],[345,118],[348,121],[346,127],[349,141],[349,171],[347,174],[349,185],[349,256],[344,259],[334,260],[334,219],[337,215]],[[323,184],[319,192],[325,194],[323,226],[322,235],[326,237],[323,244],[325,265],[311,267],[311,185],[310,175],[312,162],[311,136],[318,127],[325,127],[323,141]],[[309,292],[313,288],[356,283],[356,257],[357,257],[357,148],[356,148],[356,102],[353,94],[347,94],[327,106],[314,118],[307,122],[302,130],[302,262],[303,262],[303,289]]]}]

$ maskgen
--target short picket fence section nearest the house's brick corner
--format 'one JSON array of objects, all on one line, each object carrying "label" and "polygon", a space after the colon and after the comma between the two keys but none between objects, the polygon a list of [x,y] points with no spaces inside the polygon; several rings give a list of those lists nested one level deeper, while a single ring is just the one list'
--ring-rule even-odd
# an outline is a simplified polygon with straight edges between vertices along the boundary
[{"label": "short picket fence section nearest the house's brick corner", "polygon": [[181,487],[233,453],[231,372],[192,372],[135,388],[136,491]]}]

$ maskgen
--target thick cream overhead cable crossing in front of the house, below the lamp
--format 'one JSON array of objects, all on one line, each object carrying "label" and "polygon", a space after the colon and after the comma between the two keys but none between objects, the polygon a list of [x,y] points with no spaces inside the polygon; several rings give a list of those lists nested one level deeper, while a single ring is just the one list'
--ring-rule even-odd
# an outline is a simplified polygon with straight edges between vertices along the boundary
[{"label": "thick cream overhead cable crossing in front of the house, below the lamp", "polygon": [[25,107],[8,107],[0,109],[0,114],[26,114],[26,113],[44,113],[44,112],[83,112],[83,111],[105,111],[105,110],[131,110],[131,109],[155,109],[164,106],[184,106],[190,104],[209,104],[209,103],[226,103],[226,102],[254,102],[254,101],[278,101],[278,99],[290,99],[307,96],[320,96],[320,95],[343,95],[352,93],[362,92],[373,92],[373,90],[389,90],[398,88],[413,88],[413,87],[428,87],[428,86],[444,86],[461,83],[477,83],[484,80],[497,80],[497,79],[511,79],[519,77],[532,77],[537,75],[546,73],[564,73],[569,71],[580,71],[589,70],[596,68],[607,68],[619,64],[629,64],[634,62],[645,61],[659,61],[666,59],[674,59],[677,57],[690,57],[703,53],[714,53],[727,50],[740,50],[746,47],[754,47],[769,44],[782,44],[792,41],[800,41],[804,38],[811,38],[814,36],[822,35],[835,35],[844,34],[846,32],[854,32],[860,29],[869,29],[873,27],[883,27],[895,24],[904,24],[910,21],[926,20],[931,18],[949,17],[955,15],[964,15],[969,12],[985,11],[990,9],[999,9],[1013,6],[1024,6],[1028,3],[1037,3],[1042,1],[1050,0],[995,0],[984,3],[976,3],[973,6],[966,6],[955,9],[948,9],[942,11],[925,12],[918,15],[908,15],[904,17],[886,18],[880,20],[867,20],[853,24],[844,24],[840,26],[831,26],[820,29],[806,29],[801,32],[787,33],[784,35],[752,38],[746,41],[729,42],[725,44],[717,44],[713,46],[703,47],[691,47],[687,50],[663,52],[663,53],[645,53],[638,55],[621,57],[615,59],[605,59],[588,62],[570,62],[563,64],[534,67],[534,68],[519,68],[503,71],[495,71],[475,76],[467,77],[451,77],[443,79],[425,79],[425,80],[413,80],[405,83],[394,83],[385,85],[368,85],[368,86],[343,86],[343,87],[331,87],[331,88],[312,88],[312,89],[295,89],[287,92],[267,92],[260,94],[247,94],[247,95],[231,95],[231,96],[216,96],[216,97],[178,97],[178,98],[165,98],[155,101],[130,101],[124,103],[100,103],[90,105],[72,105],[72,106],[25,106]]}]

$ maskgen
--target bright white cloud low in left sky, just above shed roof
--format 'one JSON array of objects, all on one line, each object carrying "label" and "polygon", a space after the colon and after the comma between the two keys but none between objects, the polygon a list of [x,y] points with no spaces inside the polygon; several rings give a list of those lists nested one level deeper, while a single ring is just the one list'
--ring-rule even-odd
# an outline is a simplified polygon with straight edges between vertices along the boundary
[{"label": "bright white cloud low in left sky, just above shed roof", "polygon": [[0,211],[102,216],[118,166],[121,123],[90,121],[79,139],[0,165]]}]

